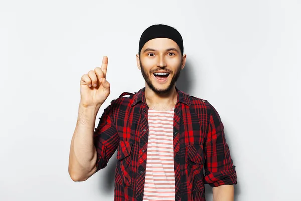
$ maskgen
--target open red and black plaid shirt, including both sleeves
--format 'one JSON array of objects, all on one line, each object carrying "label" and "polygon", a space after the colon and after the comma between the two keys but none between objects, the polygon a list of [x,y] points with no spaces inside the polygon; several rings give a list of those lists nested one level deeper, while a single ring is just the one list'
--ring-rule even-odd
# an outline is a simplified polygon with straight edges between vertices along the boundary
[{"label": "open red and black plaid shirt, including both sleeves", "polygon": [[[175,200],[203,201],[204,184],[237,184],[235,166],[215,108],[206,100],[176,90]],[[135,94],[122,93],[113,100],[94,131],[97,171],[118,151],[114,200],[143,200],[148,142],[144,92],[145,87]]]}]

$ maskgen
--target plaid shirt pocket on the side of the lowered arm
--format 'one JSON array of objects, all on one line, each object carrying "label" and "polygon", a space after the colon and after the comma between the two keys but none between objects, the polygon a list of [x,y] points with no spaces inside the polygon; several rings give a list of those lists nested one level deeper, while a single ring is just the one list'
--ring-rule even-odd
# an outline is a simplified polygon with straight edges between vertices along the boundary
[{"label": "plaid shirt pocket on the side of the lowered arm", "polygon": [[203,184],[203,167],[204,167],[204,150],[203,145],[192,144],[186,147],[186,172],[188,190],[204,191]]}]

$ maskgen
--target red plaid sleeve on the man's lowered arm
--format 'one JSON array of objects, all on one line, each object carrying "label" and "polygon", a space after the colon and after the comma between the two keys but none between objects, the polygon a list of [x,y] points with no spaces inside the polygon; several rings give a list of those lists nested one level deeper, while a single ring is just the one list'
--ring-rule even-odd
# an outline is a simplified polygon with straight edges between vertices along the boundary
[{"label": "red plaid sleeve on the man's lowered arm", "polygon": [[204,142],[205,183],[211,187],[237,184],[235,166],[226,143],[224,126],[220,116],[212,106],[208,132]]}]

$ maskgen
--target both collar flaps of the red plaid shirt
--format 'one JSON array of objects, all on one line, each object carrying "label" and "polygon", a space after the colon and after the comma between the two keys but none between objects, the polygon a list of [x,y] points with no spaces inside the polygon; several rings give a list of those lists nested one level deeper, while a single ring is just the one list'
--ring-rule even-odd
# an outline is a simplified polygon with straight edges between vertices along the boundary
[{"label": "both collar flaps of the red plaid shirt", "polygon": [[[191,103],[190,103],[189,95],[186,94],[185,92],[179,90],[177,87],[176,87],[176,91],[177,91],[177,103],[176,103],[176,105],[180,102],[180,103],[184,103],[184,104],[186,104],[190,107]],[[145,87],[140,89],[137,93],[134,94],[131,106],[134,106],[139,102],[142,102],[142,103],[146,104]]]}]

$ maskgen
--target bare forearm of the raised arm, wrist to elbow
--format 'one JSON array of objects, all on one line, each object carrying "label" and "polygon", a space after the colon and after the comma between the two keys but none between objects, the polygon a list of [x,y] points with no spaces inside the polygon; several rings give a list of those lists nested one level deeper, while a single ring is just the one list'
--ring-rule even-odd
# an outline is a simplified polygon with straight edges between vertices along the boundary
[{"label": "bare forearm of the raised arm, wrist to elbow", "polygon": [[93,144],[93,132],[99,108],[79,105],[69,155],[68,171],[72,180],[86,180],[96,169],[97,152]]}]

